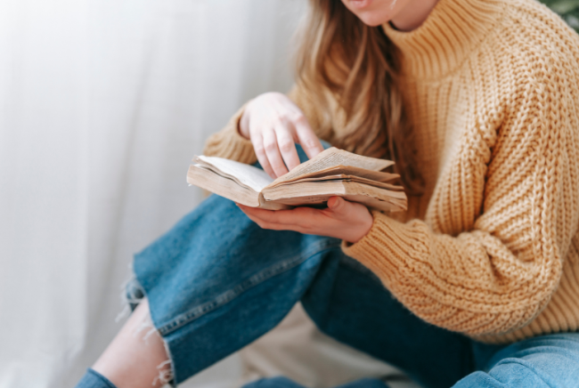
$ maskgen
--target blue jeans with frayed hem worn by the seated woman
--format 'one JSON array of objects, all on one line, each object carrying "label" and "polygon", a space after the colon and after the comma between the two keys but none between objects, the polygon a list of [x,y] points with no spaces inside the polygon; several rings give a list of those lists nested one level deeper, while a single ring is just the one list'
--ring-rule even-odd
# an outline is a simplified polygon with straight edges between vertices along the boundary
[{"label": "blue jeans with frayed hem worn by the seated woman", "polygon": [[[336,238],[263,230],[232,201],[212,196],[135,255],[174,383],[264,335],[301,301],[323,333],[425,387],[579,386],[579,334],[478,343],[414,316],[339,246]],[[296,386],[279,378],[254,384]]]}]

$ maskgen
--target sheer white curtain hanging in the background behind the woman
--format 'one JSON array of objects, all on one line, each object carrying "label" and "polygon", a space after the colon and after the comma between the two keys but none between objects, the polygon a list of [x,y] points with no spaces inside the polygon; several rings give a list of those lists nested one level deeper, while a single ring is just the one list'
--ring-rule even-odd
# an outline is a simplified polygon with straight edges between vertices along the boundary
[{"label": "sheer white curtain hanging in the background behind the woman", "polygon": [[0,388],[71,387],[94,362],[132,255],[200,202],[192,156],[242,102],[289,89],[304,10],[0,0]]}]

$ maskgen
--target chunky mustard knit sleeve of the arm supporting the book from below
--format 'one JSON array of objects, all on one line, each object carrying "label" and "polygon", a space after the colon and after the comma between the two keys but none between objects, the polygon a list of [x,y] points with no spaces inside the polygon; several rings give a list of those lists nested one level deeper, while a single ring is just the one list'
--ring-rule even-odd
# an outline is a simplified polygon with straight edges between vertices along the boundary
[{"label": "chunky mustard knit sleeve of the arm supporting the book from below", "polygon": [[532,321],[558,287],[579,222],[579,101],[553,73],[514,96],[488,166],[461,171],[485,182],[472,230],[444,234],[373,212],[370,232],[343,244],[421,319],[485,340]]}]

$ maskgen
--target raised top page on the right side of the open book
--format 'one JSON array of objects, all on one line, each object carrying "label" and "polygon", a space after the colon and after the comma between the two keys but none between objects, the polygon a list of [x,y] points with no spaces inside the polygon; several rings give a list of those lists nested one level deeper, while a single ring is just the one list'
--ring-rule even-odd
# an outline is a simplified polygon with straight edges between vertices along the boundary
[{"label": "raised top page on the right side of the open book", "polygon": [[337,148],[330,148],[323,150],[314,158],[297,166],[290,173],[285,174],[276,179],[274,184],[279,182],[291,181],[298,178],[300,175],[317,173],[333,166],[352,166],[363,168],[372,171],[381,171],[389,166],[394,165],[394,162],[385,159],[368,158],[360,155],[355,155],[345,150],[338,150]]}]

